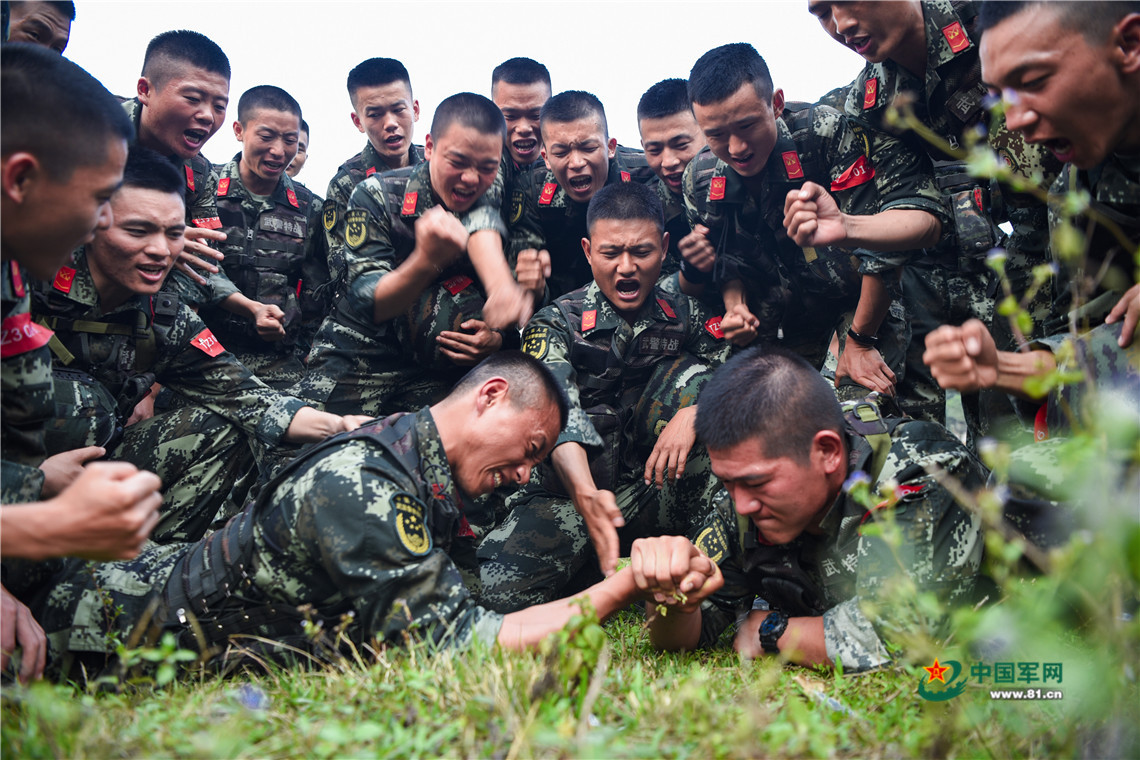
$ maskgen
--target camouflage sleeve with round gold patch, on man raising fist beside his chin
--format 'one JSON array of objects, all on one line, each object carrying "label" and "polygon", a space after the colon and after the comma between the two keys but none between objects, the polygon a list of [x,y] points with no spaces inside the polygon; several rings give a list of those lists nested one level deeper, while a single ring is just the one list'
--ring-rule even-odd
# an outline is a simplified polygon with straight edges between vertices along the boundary
[{"label": "camouflage sleeve with round gold patch, on man raising fist beside his chin", "polygon": [[356,186],[344,214],[344,256],[349,300],[361,312],[372,310],[380,278],[400,265],[392,245],[384,188],[376,175]]}]

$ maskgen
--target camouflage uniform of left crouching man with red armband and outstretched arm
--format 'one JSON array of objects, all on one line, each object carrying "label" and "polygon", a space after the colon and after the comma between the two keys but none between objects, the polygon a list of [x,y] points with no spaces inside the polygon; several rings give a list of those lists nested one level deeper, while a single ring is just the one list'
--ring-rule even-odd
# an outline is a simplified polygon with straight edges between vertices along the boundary
[{"label": "camouflage uniform of left crouching man with red armband and outstretched arm", "polygon": [[[138,295],[104,313],[82,253],[36,288],[33,313],[56,332],[48,452],[105,446],[156,473],[165,488],[152,538],[198,538],[252,465],[242,432],[276,444],[302,402],[254,377],[177,296]],[[193,404],[124,428],[154,382]]]}]

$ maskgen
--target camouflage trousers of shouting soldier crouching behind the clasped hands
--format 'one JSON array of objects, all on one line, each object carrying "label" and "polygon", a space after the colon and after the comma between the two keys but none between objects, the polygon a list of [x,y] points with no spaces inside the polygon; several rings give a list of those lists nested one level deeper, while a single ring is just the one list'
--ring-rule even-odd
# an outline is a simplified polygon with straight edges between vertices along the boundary
[{"label": "camouflage trousers of shouting soldier crouching behind the clasped hands", "polygon": [[[549,477],[556,479],[547,471]],[[569,497],[531,481],[507,499],[506,518],[479,545],[479,603],[497,612],[543,604],[601,580],[597,553],[586,522]],[[666,480],[658,490],[645,485],[642,472],[624,473],[614,489],[625,528],[618,530],[621,556],[635,539],[689,536],[712,504],[720,483],[708,452],[697,446],[689,453],[679,481]]]}]

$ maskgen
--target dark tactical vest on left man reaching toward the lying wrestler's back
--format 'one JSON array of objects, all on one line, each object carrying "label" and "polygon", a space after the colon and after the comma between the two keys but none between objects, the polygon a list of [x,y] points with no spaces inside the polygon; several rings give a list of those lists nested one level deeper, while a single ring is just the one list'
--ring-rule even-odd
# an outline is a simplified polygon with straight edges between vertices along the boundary
[{"label": "dark tactical vest on left man reaching toward the lying wrestler's back", "polygon": [[60,300],[49,292],[44,310],[49,316],[36,320],[55,332],[48,343],[56,407],[47,426],[48,453],[85,446],[109,451],[136,404],[150,392],[158,341],[174,325],[181,304],[177,295],[163,291],[149,297],[153,317],[133,309],[98,321],[50,316],[65,309],[52,308]]}]

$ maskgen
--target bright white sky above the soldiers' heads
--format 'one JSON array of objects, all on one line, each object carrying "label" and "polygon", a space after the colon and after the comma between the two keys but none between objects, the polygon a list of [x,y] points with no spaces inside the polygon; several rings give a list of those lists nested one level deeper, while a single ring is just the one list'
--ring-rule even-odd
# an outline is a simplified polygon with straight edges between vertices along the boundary
[{"label": "bright white sky above the soldiers' heads", "polygon": [[605,106],[610,134],[641,147],[636,109],[662,79],[686,79],[707,50],[750,42],[776,87],[792,100],[815,100],[846,84],[863,59],[826,35],[807,0],[715,2],[610,0],[595,2],[409,2],[334,0],[78,0],[66,56],[108,90],[133,96],[147,42],[171,28],[202,32],[226,51],[233,77],[227,123],[203,153],[214,163],[239,149],[237,99],[258,84],[276,84],[301,104],[312,130],[309,162],[298,179],[325,195],[347,158],[365,144],[349,119],[349,71],[385,56],[412,75],[423,144],[432,113],[455,92],[490,96],[491,70],[528,56],[546,65],[554,91],[588,90]]}]

